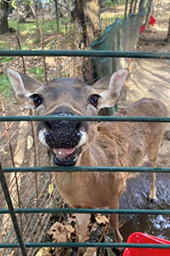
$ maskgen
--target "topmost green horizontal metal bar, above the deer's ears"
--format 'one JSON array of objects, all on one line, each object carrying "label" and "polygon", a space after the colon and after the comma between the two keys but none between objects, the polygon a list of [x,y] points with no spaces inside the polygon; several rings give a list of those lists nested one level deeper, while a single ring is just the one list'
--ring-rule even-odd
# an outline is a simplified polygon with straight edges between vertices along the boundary
[{"label": "topmost green horizontal metal bar, above the deer's ears", "polygon": [[1,56],[80,56],[80,57],[116,57],[116,58],[145,58],[170,59],[170,53],[165,52],[134,52],[111,50],[23,50],[3,49]]}]

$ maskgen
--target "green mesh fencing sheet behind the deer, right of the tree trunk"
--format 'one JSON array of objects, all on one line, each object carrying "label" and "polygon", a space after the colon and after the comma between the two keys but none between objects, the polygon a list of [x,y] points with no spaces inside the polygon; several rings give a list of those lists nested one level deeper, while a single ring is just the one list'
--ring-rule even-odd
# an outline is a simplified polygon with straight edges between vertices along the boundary
[{"label": "green mesh fencing sheet behind the deer, right of the tree trunk", "polygon": [[[140,27],[144,19],[143,14],[128,15],[124,20],[118,20],[108,26],[104,35],[102,35],[91,49],[94,50],[116,50],[133,51],[139,41]],[[94,57],[94,64],[98,79],[110,75],[120,68],[127,67],[125,58]]]}]

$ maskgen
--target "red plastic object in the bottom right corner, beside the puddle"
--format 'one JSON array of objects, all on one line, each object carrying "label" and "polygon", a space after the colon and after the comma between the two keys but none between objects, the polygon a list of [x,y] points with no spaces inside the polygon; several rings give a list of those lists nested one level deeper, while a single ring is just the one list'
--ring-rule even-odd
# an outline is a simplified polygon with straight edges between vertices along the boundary
[{"label": "red plastic object in the bottom right corner, beside the puddle", "polygon": [[[136,232],[128,236],[127,243],[170,244],[170,241],[156,236]],[[122,256],[170,256],[170,249],[157,248],[125,248]]]}]

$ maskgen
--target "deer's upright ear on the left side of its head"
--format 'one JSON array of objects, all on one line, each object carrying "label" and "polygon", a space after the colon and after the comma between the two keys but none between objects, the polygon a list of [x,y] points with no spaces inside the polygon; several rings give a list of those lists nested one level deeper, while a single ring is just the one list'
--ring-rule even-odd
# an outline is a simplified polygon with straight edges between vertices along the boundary
[{"label": "deer's upright ear on the left side of its head", "polygon": [[7,68],[8,79],[14,90],[14,96],[22,108],[35,108],[31,101],[31,94],[35,93],[40,84],[37,80],[31,79],[23,73],[12,68]]}]

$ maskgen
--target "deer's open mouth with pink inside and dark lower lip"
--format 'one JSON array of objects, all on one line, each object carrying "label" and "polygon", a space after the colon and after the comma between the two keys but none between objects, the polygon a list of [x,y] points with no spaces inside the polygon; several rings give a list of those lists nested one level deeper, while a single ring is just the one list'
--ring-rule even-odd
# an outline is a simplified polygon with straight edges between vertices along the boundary
[{"label": "deer's open mouth with pink inside and dark lower lip", "polygon": [[53,148],[52,159],[56,166],[75,166],[77,163],[76,148]]}]

